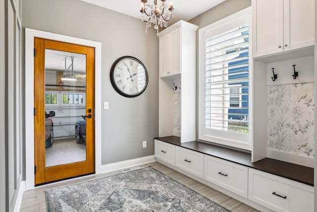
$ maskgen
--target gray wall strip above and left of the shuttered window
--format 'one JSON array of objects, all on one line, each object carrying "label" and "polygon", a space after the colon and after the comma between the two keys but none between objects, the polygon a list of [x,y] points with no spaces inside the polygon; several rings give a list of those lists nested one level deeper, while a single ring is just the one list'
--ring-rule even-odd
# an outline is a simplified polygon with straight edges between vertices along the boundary
[{"label": "gray wall strip above and left of the shuttered window", "polygon": [[211,23],[214,23],[218,20],[221,20],[222,18],[225,18],[229,15],[232,15],[242,9],[245,9],[247,7],[251,6],[251,0],[226,0],[217,6],[211,8],[210,10],[207,10],[206,12],[196,16],[195,18],[189,20],[188,22],[195,24],[199,26],[197,33],[196,33],[196,140],[199,141],[198,136],[199,136],[199,131],[198,131],[198,97],[199,97],[199,58],[198,58],[198,38],[199,38],[199,29],[210,25]]}]

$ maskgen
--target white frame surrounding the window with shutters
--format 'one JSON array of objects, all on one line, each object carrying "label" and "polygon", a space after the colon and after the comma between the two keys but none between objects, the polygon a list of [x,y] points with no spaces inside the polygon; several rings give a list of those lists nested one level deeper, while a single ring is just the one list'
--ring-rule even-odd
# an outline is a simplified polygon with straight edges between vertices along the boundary
[{"label": "white frame surrounding the window with shutters", "polygon": [[[253,74],[252,74],[252,8],[248,7],[221,20],[218,20],[204,28],[199,29],[199,140],[219,143],[231,147],[252,149],[252,117],[253,117]],[[205,96],[204,96],[204,49],[206,37],[212,37],[229,31],[243,24],[249,24],[249,134],[240,134],[220,130],[210,130],[205,127]],[[238,108],[238,107],[237,107]]]}]

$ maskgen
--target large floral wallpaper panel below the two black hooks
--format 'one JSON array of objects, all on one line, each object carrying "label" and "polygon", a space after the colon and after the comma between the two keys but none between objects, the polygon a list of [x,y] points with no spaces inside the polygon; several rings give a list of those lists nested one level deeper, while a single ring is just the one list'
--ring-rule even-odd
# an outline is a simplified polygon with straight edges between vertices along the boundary
[{"label": "large floral wallpaper panel below the two black hooks", "polygon": [[268,148],[314,157],[314,82],[267,86]]}]

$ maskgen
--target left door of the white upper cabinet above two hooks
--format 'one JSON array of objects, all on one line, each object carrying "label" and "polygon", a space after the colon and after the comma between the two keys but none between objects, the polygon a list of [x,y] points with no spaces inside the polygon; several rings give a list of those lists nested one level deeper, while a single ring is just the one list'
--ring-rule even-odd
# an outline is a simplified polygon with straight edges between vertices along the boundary
[{"label": "left door of the white upper cabinet above two hooks", "polygon": [[283,0],[252,0],[253,57],[283,52]]}]

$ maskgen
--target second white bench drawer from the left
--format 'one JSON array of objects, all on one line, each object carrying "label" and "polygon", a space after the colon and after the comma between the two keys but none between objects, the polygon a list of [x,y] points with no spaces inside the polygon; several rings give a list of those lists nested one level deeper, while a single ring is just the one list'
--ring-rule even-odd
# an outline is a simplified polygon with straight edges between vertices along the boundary
[{"label": "second white bench drawer from the left", "polygon": [[175,147],[175,166],[204,178],[204,154],[183,147]]}]

